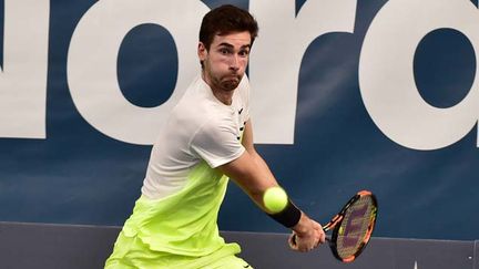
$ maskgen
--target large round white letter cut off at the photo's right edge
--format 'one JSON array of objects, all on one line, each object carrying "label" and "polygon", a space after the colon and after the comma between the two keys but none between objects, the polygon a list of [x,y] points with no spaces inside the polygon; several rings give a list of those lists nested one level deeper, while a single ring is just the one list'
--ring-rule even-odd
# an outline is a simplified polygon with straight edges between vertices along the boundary
[{"label": "large round white letter cut off at the photo's right edge", "polygon": [[390,0],[374,19],[361,49],[359,84],[369,115],[386,136],[415,149],[451,145],[478,118],[477,75],[467,96],[447,108],[429,105],[417,90],[416,48],[427,33],[440,28],[468,37],[479,63],[479,13],[469,0]]}]

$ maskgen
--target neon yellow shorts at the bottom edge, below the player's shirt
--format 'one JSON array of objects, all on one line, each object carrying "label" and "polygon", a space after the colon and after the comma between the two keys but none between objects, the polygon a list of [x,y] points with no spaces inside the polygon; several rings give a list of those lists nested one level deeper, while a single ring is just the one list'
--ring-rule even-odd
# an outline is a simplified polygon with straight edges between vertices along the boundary
[{"label": "neon yellow shorts at the bottom edge, below the player's shirt", "polygon": [[241,248],[227,244],[204,257],[188,257],[151,250],[140,238],[126,237],[120,232],[113,254],[105,262],[105,269],[253,269],[235,256]]}]

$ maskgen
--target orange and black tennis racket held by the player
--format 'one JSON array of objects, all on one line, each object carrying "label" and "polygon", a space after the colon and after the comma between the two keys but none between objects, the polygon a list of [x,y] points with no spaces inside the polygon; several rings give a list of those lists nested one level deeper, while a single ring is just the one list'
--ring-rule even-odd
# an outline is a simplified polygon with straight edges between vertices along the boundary
[{"label": "orange and black tennis racket held by the player", "polygon": [[[326,238],[336,259],[351,262],[366,248],[373,235],[377,217],[377,200],[373,193],[361,190],[353,196],[343,209],[323,226],[323,230],[333,229]],[[292,238],[296,244],[296,235]]]}]

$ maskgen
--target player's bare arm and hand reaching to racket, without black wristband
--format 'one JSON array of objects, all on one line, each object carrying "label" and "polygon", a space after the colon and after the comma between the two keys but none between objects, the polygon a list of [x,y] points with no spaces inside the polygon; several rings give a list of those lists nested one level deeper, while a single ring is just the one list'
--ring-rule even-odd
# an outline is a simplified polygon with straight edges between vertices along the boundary
[{"label": "player's bare arm and hand reaching to racket, without black wristband", "polygon": [[[238,158],[220,166],[220,169],[230,176],[256,205],[268,213],[263,205],[263,194],[267,188],[278,186],[278,183],[265,161],[254,148],[251,121],[245,125],[243,146],[246,151]],[[304,213],[302,213],[298,224],[292,229],[298,237],[297,245],[292,246],[294,249],[307,251],[325,240],[320,225],[309,219]]]}]

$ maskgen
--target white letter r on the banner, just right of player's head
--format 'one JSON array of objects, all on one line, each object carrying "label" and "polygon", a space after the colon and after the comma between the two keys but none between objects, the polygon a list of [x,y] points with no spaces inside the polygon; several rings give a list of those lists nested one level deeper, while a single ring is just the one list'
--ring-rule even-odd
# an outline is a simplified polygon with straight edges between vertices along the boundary
[{"label": "white letter r on the banner, just right of player's head", "polygon": [[354,31],[356,1],[251,0],[259,38],[249,60],[255,142],[293,144],[298,76],[308,45],[328,32]]}]

